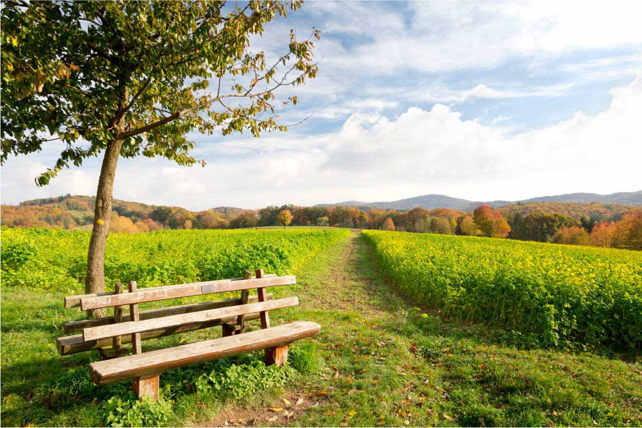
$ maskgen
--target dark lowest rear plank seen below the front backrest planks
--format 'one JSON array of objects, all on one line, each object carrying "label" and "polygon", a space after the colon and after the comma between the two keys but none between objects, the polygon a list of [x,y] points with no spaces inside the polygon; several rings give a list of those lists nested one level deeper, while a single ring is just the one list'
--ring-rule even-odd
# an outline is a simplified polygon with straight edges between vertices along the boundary
[{"label": "dark lowest rear plank seen below the front backrest planks", "polygon": [[[247,314],[245,316],[245,321],[258,319],[259,312],[254,312],[253,314]],[[209,320],[198,323],[172,325],[171,327],[166,327],[164,329],[155,329],[141,332],[141,340],[163,338],[165,336],[171,336],[172,334],[186,333],[194,330],[207,329],[209,327],[218,327],[219,325],[234,321],[236,321],[236,316],[228,316],[227,318],[221,318],[220,320]],[[131,343],[131,338],[132,336],[130,335],[123,336],[123,345],[125,343]],[[111,342],[112,338],[84,341],[82,338],[82,334],[74,334],[73,336],[64,336],[62,338],[57,338],[56,347],[58,348],[58,354],[71,355],[78,354],[78,352],[89,351],[92,349],[110,347]]]}]

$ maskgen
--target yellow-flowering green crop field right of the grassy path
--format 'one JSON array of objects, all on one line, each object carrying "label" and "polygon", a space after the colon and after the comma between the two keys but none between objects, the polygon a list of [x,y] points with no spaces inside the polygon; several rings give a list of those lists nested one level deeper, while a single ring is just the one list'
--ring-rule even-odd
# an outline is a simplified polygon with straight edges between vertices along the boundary
[{"label": "yellow-flowering green crop field right of the grassy path", "polygon": [[374,230],[363,236],[385,275],[442,316],[497,323],[531,346],[642,347],[639,252]]}]

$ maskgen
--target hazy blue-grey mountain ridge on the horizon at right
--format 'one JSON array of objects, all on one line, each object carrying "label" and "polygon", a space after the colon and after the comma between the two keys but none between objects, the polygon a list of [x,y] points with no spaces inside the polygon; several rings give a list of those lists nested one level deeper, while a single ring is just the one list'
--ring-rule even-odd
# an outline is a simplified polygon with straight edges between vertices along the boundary
[{"label": "hazy blue-grey mountain ridge on the horizon at right", "polygon": [[351,207],[361,206],[375,209],[396,209],[412,210],[415,207],[422,207],[427,210],[436,208],[448,208],[460,211],[471,211],[480,205],[486,204],[493,208],[503,207],[511,203],[527,202],[578,202],[578,203],[620,203],[622,205],[642,205],[642,191],[629,193],[613,194],[596,194],[596,193],[569,193],[556,196],[541,196],[521,201],[469,201],[465,199],[451,198],[442,194],[426,194],[424,196],[415,196],[415,198],[401,199],[392,202],[359,202],[345,201],[338,203],[320,203],[317,207],[327,207],[329,205],[347,205]]}]

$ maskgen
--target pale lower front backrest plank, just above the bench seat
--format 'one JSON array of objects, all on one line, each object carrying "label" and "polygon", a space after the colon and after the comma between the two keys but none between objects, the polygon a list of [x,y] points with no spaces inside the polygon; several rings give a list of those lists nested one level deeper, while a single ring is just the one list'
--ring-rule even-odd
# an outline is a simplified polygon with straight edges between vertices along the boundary
[{"label": "pale lower front backrest plank, just above the bench seat", "polygon": [[[252,280],[259,281],[259,280]],[[130,296],[136,293],[130,293]],[[116,297],[116,296],[114,296]],[[117,334],[131,334],[135,332],[143,332],[146,330],[160,329],[162,327],[169,327],[171,325],[180,325],[182,323],[190,323],[197,321],[216,320],[218,318],[226,318],[228,316],[238,316],[240,314],[247,314],[260,311],[271,311],[272,309],[279,309],[281,307],[296,306],[299,304],[299,298],[289,297],[278,300],[270,300],[269,302],[257,302],[254,304],[238,305],[232,307],[224,307],[221,309],[210,309],[209,311],[193,312],[191,314],[180,314],[173,316],[166,316],[164,318],[153,318],[146,321],[135,321],[128,323],[119,323],[112,325],[101,325],[100,327],[89,327],[83,330],[83,339],[94,340],[106,338],[109,336],[116,336]]]}]

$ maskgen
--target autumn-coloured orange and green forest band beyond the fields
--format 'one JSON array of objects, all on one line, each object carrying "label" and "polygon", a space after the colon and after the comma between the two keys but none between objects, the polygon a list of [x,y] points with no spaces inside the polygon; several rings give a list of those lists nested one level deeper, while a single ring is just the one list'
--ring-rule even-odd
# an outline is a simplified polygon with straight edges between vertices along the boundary
[{"label": "autumn-coloured orange and green forest band beyond the fields", "polygon": [[[2,205],[1,223],[7,227],[91,228],[93,211],[94,198],[91,196],[67,194],[24,201],[20,205]],[[114,200],[110,231],[135,234],[162,229],[252,228],[288,224],[476,235],[642,250],[642,207],[616,203],[531,202],[514,203],[499,209],[480,205],[471,212],[421,207],[401,212],[394,209],[362,210],[341,205],[299,207],[286,204],[259,210],[218,207],[195,212],[181,207]]]}]

